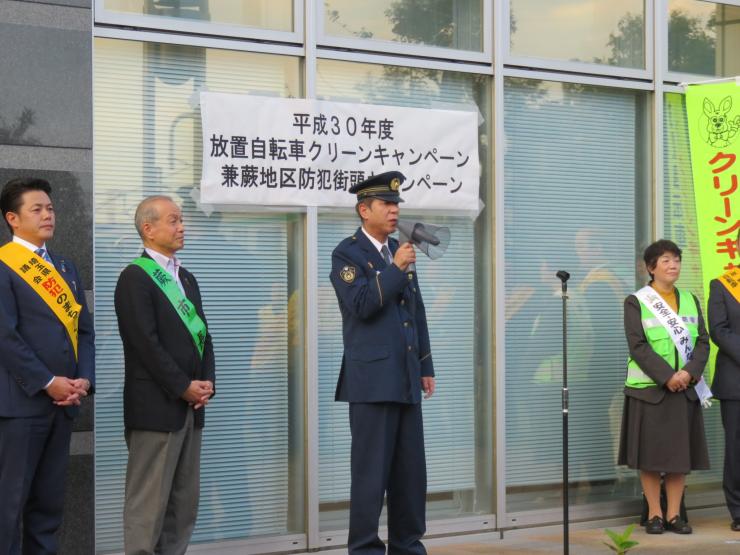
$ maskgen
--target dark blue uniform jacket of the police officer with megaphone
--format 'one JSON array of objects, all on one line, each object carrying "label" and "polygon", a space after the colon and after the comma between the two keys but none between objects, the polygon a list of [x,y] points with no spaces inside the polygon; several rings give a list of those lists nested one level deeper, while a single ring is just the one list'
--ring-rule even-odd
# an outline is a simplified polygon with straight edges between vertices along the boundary
[{"label": "dark blue uniform jacket of the police officer with megaphone", "polygon": [[[389,239],[391,253],[398,241]],[[344,357],[335,399],[421,401],[434,376],[424,303],[415,273],[386,265],[362,229],[332,253],[330,279],[342,313]]]}]

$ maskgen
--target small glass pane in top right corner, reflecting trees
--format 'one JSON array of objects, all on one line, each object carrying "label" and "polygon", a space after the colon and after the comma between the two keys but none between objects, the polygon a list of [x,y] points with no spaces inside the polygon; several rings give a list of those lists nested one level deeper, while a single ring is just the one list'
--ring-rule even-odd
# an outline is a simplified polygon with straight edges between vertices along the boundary
[{"label": "small glass pane in top right corner, reflecting trees", "polygon": [[668,2],[668,69],[733,76],[740,73],[740,6],[698,0]]}]

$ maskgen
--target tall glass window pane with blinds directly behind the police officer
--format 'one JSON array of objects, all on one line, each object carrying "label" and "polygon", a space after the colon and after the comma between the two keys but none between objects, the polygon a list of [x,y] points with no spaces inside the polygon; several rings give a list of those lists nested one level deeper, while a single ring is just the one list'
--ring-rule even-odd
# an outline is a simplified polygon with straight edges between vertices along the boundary
[{"label": "tall glass window pane with blinds directly behind the police officer", "polygon": [[[372,86],[367,86],[372,83]],[[381,65],[319,60],[320,98],[417,108],[475,103],[485,123],[480,127],[481,197],[487,202],[491,117],[488,76]],[[469,218],[418,215],[401,206],[403,217],[448,226],[447,253],[417,267],[432,353],[437,392],[424,401],[428,470],[427,518],[453,518],[493,512],[493,430],[490,241],[486,208]],[[353,210],[319,218],[319,495],[320,527],[348,525],[350,484],[349,417],[346,403],[334,401],[342,361],[342,322],[329,282],[331,252],[359,226]]]}]

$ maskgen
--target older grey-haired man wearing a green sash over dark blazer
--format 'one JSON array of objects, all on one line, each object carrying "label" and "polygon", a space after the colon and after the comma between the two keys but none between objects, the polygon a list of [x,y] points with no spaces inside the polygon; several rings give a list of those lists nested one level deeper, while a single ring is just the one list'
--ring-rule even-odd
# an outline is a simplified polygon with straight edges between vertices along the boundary
[{"label": "older grey-haired man wearing a green sash over dark blazer", "polygon": [[[213,346],[198,282],[175,256],[185,241],[180,208],[169,197],[146,198],[135,224],[144,252],[121,272],[115,291],[129,451],[124,545],[127,555],[180,554],[198,513],[203,407],[214,394]],[[165,282],[172,296],[160,286]],[[185,306],[202,322],[200,336],[186,326]]]}]

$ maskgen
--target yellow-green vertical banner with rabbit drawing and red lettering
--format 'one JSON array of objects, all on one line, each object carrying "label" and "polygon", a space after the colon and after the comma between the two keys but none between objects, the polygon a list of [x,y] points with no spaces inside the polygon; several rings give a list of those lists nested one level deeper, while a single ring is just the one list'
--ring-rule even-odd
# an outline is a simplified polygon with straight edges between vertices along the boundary
[{"label": "yellow-green vertical banner with rabbit drawing and red lettering", "polygon": [[686,117],[702,283],[704,298],[707,299],[712,279],[740,267],[737,248],[740,231],[740,78],[723,83],[688,85]]}]

